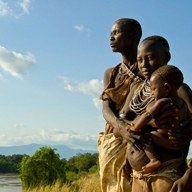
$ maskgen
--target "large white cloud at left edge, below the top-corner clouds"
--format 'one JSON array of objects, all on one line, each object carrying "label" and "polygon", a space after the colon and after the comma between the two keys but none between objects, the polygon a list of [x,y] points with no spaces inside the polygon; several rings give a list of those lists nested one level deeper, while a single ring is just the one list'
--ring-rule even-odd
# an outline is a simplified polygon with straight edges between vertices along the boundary
[{"label": "large white cloud at left edge, below the top-corner clouds", "polygon": [[23,55],[0,46],[0,67],[16,78],[23,79],[25,69],[34,63],[31,53]]}]

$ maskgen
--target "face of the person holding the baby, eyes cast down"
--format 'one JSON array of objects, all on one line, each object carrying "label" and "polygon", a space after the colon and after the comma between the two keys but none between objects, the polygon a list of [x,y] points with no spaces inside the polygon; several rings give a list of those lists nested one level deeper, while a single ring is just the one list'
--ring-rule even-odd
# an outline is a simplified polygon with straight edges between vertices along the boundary
[{"label": "face of the person holding the baby, eyes cast down", "polygon": [[138,68],[142,75],[149,79],[159,67],[166,65],[164,47],[153,40],[146,40],[138,48]]}]

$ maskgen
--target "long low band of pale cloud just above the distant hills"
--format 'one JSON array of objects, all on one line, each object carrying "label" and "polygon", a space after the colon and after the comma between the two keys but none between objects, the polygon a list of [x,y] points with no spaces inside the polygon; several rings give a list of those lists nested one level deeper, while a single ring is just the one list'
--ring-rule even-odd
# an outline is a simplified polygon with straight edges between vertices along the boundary
[{"label": "long low band of pale cloud just above the distant hills", "polygon": [[32,143],[66,145],[73,149],[96,150],[98,135],[64,132],[57,129],[42,129],[34,134],[0,135],[0,146],[26,145]]}]

